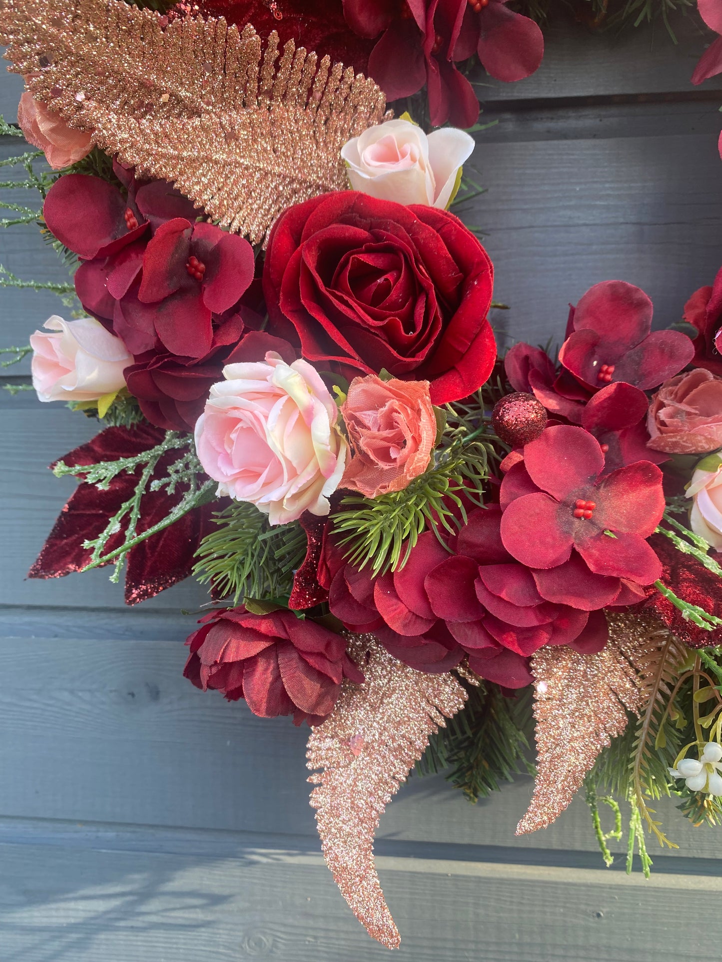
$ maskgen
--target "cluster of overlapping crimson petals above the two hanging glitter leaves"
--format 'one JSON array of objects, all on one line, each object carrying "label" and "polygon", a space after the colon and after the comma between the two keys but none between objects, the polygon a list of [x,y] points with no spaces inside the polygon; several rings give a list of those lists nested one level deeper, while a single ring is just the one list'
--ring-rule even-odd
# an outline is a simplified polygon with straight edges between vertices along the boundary
[{"label": "cluster of overlapping crimson petals above the two hanging glitter leaves", "polygon": [[[349,630],[373,631],[418,671],[449,671],[468,655],[473,671],[505,688],[530,683],[529,655],[543,645],[604,647],[604,616],[586,599],[576,607],[547,601],[534,572],[503,547],[501,519],[493,505],[472,511],[451,553],[426,531],[402,568],[376,578],[326,539],[319,580],[331,612]],[[619,593],[614,587],[598,607]]]}]

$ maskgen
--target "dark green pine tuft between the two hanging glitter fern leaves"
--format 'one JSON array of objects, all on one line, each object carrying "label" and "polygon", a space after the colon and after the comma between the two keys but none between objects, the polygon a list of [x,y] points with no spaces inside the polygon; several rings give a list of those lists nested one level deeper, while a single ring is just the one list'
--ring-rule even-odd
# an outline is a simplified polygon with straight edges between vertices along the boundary
[{"label": "dark green pine tuft between the two hanging glitter fern leaves", "polygon": [[464,709],[429,739],[417,763],[420,774],[446,770],[448,781],[472,802],[513,781],[520,772],[534,773],[527,760],[531,721],[529,689],[516,697],[503,695],[496,685],[467,684]]}]

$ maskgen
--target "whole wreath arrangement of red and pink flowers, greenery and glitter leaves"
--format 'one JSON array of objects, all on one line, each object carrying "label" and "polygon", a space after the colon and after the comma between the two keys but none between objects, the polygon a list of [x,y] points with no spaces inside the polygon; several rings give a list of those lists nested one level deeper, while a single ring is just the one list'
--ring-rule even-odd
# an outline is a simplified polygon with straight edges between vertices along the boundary
[{"label": "whole wreath arrangement of red and pink flowers, greenery and glitter leaves", "polygon": [[13,222],[75,268],[46,285],[70,319],[4,363],[32,353],[39,400],[101,425],[51,466],[79,483],[30,576],[111,566],[128,604],[208,585],[185,676],[310,727],[326,860],[390,948],[374,831],[415,765],[474,801],[535,772],[520,833],[583,787],[607,864],[629,804],[644,873],[646,835],[674,845],[655,799],[718,823],[722,271],[673,329],[611,280],[557,354],[497,356],[493,266],[450,210],[474,139],[439,125],[477,121],[474,51],[536,68],[536,24],[5,0],[0,41],[43,199]]}]

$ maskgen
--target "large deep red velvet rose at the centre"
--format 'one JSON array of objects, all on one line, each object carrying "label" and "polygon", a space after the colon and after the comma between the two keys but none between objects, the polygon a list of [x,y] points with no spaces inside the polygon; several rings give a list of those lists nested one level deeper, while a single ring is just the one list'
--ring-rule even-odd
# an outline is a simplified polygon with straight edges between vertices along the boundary
[{"label": "large deep red velvet rose at the centre", "polygon": [[[386,368],[426,380],[434,404],[491,373],[493,268],[471,231],[432,207],[347,190],[289,208],[264,266],[271,333],[350,380]],[[293,325],[293,327],[292,327]]]}]

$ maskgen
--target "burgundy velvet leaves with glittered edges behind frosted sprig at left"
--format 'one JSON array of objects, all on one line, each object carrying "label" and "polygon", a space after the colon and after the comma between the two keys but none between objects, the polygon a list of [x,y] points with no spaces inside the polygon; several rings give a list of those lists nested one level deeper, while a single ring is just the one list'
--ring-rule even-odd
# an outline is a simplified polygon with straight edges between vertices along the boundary
[{"label": "burgundy velvet leaves with glittered edges behind frosted sprig at left", "polygon": [[[129,458],[155,447],[165,436],[165,431],[146,424],[130,428],[109,427],[61,460],[68,466],[77,466]],[[159,461],[154,477],[164,477],[168,465],[177,457],[177,451],[168,451]],[[95,485],[81,483],[64,506],[28,577],[60,578],[82,570],[90,562],[91,554],[88,548],[83,547],[83,543],[97,538],[105,530],[123,502],[132,496],[138,478],[138,472],[134,475],[121,472],[110,482],[106,491],[100,491]],[[175,494],[168,494],[165,490],[147,491],[142,496],[138,533],[142,534],[168,517],[184,492],[182,488],[177,489]],[[125,573],[126,604],[136,604],[158,595],[165,588],[190,576],[193,555],[201,540],[211,531],[211,517],[218,510],[218,503],[195,508],[168,528],[131,548]],[[127,518],[122,522],[121,530],[109,539],[106,551],[112,551],[122,544],[126,524]]]}]

